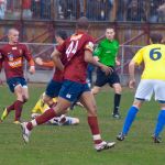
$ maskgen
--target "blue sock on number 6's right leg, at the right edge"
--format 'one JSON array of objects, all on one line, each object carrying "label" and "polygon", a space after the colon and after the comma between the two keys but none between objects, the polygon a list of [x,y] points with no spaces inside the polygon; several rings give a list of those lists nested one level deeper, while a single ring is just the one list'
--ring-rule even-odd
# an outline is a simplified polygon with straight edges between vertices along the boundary
[{"label": "blue sock on number 6's right leg, at the right edge", "polygon": [[160,114],[158,114],[158,118],[157,118],[157,123],[156,123],[156,127],[155,127],[155,131],[154,131],[155,136],[160,135],[160,133],[162,132],[164,125],[165,125],[165,110],[161,110]]}]

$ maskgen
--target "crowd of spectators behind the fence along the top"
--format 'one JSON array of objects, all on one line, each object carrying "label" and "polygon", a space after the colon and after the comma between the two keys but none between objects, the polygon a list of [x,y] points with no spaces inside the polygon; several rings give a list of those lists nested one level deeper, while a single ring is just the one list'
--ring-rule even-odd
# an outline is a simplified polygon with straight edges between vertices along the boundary
[{"label": "crowd of spectators behind the fence along the top", "polygon": [[0,19],[165,22],[165,0],[0,0]]}]

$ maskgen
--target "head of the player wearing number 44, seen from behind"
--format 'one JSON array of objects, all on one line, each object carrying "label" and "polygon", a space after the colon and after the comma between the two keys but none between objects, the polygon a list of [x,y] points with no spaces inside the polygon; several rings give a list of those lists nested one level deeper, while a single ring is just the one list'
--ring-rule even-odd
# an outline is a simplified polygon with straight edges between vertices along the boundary
[{"label": "head of the player wearing number 44, seen from behind", "polygon": [[89,29],[89,21],[86,16],[81,16],[76,22],[76,29],[77,30],[85,30],[87,31]]}]

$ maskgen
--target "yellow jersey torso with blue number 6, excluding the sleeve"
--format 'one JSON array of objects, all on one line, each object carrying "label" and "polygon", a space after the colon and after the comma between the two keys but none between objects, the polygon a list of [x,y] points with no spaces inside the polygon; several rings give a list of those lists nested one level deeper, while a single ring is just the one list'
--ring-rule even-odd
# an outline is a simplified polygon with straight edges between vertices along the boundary
[{"label": "yellow jersey torso with blue number 6, excluding the sleeve", "polygon": [[143,79],[165,80],[165,45],[151,44],[141,50],[144,61]]}]

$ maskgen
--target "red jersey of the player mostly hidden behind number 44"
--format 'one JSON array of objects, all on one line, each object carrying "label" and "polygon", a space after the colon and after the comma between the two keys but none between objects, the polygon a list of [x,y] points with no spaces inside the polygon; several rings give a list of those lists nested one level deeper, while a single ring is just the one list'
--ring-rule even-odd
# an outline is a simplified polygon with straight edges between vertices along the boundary
[{"label": "red jersey of the player mostly hidden behind number 44", "polygon": [[[61,61],[62,61],[63,65],[65,66],[65,64],[67,62],[65,54],[62,54]],[[54,75],[53,75],[53,80],[63,81],[64,80],[64,70],[59,70],[58,68],[56,68],[54,72]]]}]

